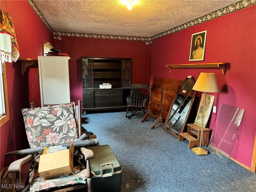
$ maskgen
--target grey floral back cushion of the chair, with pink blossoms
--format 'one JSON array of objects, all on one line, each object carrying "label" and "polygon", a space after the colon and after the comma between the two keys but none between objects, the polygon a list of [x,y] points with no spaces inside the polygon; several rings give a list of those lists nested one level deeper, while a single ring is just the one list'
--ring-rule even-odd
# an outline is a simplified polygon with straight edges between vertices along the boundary
[{"label": "grey floral back cushion of the chair, with pink blossoms", "polygon": [[74,103],[22,109],[30,148],[73,142],[77,137]]}]

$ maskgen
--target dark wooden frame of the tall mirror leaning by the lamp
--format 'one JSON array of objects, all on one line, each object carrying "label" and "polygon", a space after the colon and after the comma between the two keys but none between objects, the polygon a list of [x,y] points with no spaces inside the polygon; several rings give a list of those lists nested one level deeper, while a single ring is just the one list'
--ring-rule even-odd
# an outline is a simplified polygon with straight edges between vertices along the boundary
[{"label": "dark wooden frame of the tall mirror leaning by the lamp", "polygon": [[[188,80],[190,80],[191,83],[192,83],[191,90],[183,90],[183,88],[185,87],[185,84],[186,84],[186,82],[188,82]],[[180,95],[183,95],[183,96],[189,96],[189,97],[191,97],[191,104],[190,104],[190,107],[189,107],[189,109],[188,109],[188,113],[187,113],[187,115],[186,115],[186,118],[185,118],[185,120],[184,120],[184,124],[183,124],[182,127],[180,128],[180,133],[183,132],[184,127],[186,126],[186,122],[187,122],[187,120],[188,120],[188,116],[189,116],[189,114],[190,114],[192,105],[193,105],[194,100],[195,100],[195,97],[196,97],[196,91],[195,91],[195,90],[192,90],[192,88],[194,87],[194,82],[195,82],[194,77],[193,77],[193,76],[188,76],[188,77],[186,77],[186,79],[183,81],[182,86],[181,86],[181,87],[178,87],[178,89],[177,89],[177,91],[176,91],[176,94],[175,94],[175,97],[174,97],[174,100],[172,101],[172,104],[171,104],[171,106],[170,106],[169,112],[168,112],[168,114],[167,114],[166,121],[164,122],[164,128],[163,128],[163,129],[164,129],[166,132],[172,134],[172,135],[173,135],[174,137],[176,137],[176,138],[179,138],[179,137],[180,137],[180,134],[176,135],[176,134],[174,134],[174,132],[172,132],[171,130],[168,130],[168,129],[166,128],[166,124],[167,124],[167,122],[168,122],[168,120],[169,120],[170,114],[171,114],[171,112],[172,112],[172,107],[173,107],[173,105],[174,105],[174,103],[175,103],[175,100],[176,100],[176,98],[177,98],[177,95],[180,94]]]}]

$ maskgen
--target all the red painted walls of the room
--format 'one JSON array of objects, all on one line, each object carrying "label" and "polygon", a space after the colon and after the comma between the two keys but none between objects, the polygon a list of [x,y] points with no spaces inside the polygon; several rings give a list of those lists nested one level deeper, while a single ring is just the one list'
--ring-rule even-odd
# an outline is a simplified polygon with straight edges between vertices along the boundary
[{"label": "all the red painted walls of the room", "polygon": [[[0,3],[1,9],[12,16],[20,58],[37,59],[46,41],[70,55],[71,100],[82,97],[80,56],[132,58],[132,83],[147,83],[148,70],[150,83],[154,76],[184,80],[188,75],[197,79],[200,72],[216,73],[221,88],[220,93],[214,94],[217,111],[221,103],[245,109],[231,156],[250,167],[256,132],[256,5],[158,38],[149,46],[145,42],[126,40],[75,37],[53,40],[48,28],[26,1],[0,0]],[[226,75],[219,69],[204,68],[174,69],[170,73],[166,64],[193,63],[188,62],[191,34],[203,30],[207,30],[203,62],[230,62]],[[32,101],[40,106],[38,69],[29,68],[22,76],[20,65],[20,61],[6,64],[10,120],[0,128],[1,168],[10,163],[10,158],[4,158],[5,152],[28,146],[21,108],[29,107]],[[211,129],[215,120],[216,114],[212,114]]]}]

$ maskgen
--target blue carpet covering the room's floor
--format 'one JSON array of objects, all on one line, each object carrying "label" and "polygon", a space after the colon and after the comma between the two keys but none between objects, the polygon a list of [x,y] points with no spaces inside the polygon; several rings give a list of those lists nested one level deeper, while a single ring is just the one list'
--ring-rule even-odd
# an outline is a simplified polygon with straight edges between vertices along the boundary
[{"label": "blue carpet covering the room's floor", "polygon": [[152,118],[126,112],[88,113],[83,127],[108,144],[122,166],[121,192],[256,192],[256,174],[216,156],[198,156]]}]

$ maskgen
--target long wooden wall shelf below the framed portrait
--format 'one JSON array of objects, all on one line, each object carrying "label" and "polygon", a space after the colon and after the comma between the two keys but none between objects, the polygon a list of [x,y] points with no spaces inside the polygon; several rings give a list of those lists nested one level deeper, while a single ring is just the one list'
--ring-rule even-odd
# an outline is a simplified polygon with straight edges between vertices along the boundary
[{"label": "long wooden wall shelf below the framed portrait", "polygon": [[190,63],[190,64],[178,64],[178,65],[166,65],[170,73],[172,68],[221,68],[222,73],[226,73],[226,64],[229,63]]}]

